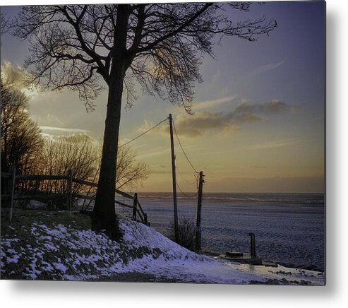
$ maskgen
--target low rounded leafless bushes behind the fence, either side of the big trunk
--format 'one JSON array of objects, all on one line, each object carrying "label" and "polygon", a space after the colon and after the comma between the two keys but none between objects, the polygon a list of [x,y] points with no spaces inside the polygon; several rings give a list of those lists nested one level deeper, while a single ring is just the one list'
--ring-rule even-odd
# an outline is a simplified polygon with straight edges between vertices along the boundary
[{"label": "low rounded leafless bushes behind the fence, either side of the big trunk", "polygon": [[[100,146],[87,135],[54,136],[44,143],[40,159],[37,160],[37,174],[58,175],[71,170],[73,177],[85,181],[97,181],[100,172]],[[136,160],[136,153],[122,147],[117,153],[116,189],[137,186],[148,177],[148,165]],[[43,182],[41,191],[66,194],[66,182]],[[73,192],[80,194],[83,186],[74,184]],[[88,191],[95,196],[95,190]]]}]

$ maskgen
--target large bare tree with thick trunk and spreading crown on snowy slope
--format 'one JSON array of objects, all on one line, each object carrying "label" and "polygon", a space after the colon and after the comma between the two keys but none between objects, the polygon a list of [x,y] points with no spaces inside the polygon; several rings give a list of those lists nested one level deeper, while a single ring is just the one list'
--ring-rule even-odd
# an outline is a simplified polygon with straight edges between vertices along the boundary
[{"label": "large bare tree with thick trunk and spreading crown on snowy slope", "polygon": [[247,2],[23,6],[14,33],[30,38],[32,81],[49,88],[78,90],[88,109],[107,85],[102,165],[93,211],[94,228],[119,236],[114,211],[117,144],[122,94],[146,93],[178,102],[188,112],[203,54],[224,36],[257,40],[274,20],[232,21],[230,10],[248,11]]}]

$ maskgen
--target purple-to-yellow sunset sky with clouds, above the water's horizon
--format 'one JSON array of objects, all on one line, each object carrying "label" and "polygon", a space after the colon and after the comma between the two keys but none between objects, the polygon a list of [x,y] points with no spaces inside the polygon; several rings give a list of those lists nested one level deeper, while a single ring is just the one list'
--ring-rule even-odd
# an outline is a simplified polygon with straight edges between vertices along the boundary
[{"label": "purple-to-yellow sunset sky with clouds, above the water's horizon", "polygon": [[[143,95],[121,114],[120,144],[171,113],[181,146],[205,174],[210,192],[323,192],[325,189],[325,4],[279,1],[232,11],[234,20],[267,16],[278,28],[256,42],[226,37],[215,59],[202,59],[193,115],[168,101]],[[18,7],[2,7],[15,16]],[[28,42],[1,37],[1,71],[18,76]],[[78,93],[26,90],[29,112],[44,134],[88,134],[102,138],[107,93],[86,112]],[[195,171],[174,138],[177,181],[196,191]],[[129,146],[150,174],[138,191],[171,191],[168,124]]]}]

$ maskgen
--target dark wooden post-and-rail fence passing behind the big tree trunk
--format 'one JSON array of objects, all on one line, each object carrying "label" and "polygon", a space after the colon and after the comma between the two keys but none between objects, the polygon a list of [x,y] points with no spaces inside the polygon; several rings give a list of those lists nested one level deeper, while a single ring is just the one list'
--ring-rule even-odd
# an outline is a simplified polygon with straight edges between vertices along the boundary
[{"label": "dark wooden post-and-rail fence passing behind the big tree trunk", "polygon": [[[1,172],[1,182],[5,179],[6,185],[5,186],[5,194],[2,194],[1,191],[1,203],[3,200],[7,201],[8,207],[10,208],[8,218],[9,220],[12,219],[12,212],[13,212],[13,201],[15,200],[23,200],[23,199],[35,199],[35,198],[42,198],[45,199],[55,199],[55,198],[66,198],[66,204],[67,204],[67,210],[71,211],[73,208],[73,202],[74,199],[83,199],[84,203],[82,206],[82,211],[88,211],[88,208],[91,205],[91,201],[95,201],[95,195],[89,196],[90,189],[92,187],[97,188],[97,184],[93,182],[88,182],[83,179],[76,179],[73,178],[71,170],[68,170],[67,174],[65,175],[40,175],[40,174],[25,174],[16,175],[16,167],[11,166],[10,172]],[[16,182],[17,181],[66,181],[66,187],[67,191],[66,194],[48,194],[48,193],[42,193],[42,192],[34,192],[29,194],[16,194]],[[73,193],[73,183],[89,186],[90,189],[88,191],[87,195],[83,194],[75,194]],[[140,222],[144,223],[145,225],[150,225],[148,222],[148,215],[143,211],[142,206],[140,205],[138,201],[138,194],[134,194],[132,196],[131,194],[127,194],[124,191],[120,191],[119,189],[116,189],[116,194],[119,194],[120,196],[124,196],[126,199],[131,199],[133,202],[133,205],[126,204],[124,202],[115,200],[116,204],[119,204],[120,206],[124,206],[125,208],[131,208],[132,211],[132,219],[133,220],[139,220]],[[89,200],[90,202],[85,206],[85,201]]]}]

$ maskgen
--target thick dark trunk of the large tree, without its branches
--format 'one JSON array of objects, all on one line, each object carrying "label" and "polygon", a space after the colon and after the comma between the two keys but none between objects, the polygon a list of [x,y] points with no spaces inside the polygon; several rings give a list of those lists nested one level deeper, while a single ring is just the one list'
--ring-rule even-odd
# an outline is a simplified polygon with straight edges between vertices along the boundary
[{"label": "thick dark trunk of the large tree, without its branches", "polygon": [[115,185],[117,149],[119,143],[119,124],[121,120],[121,101],[126,73],[126,39],[128,26],[128,5],[119,5],[117,9],[114,41],[117,48],[112,55],[112,67],[107,97],[107,117],[105,119],[104,141],[100,177],[92,213],[92,229],[106,230],[112,239],[121,237],[119,222],[115,213]]}]

